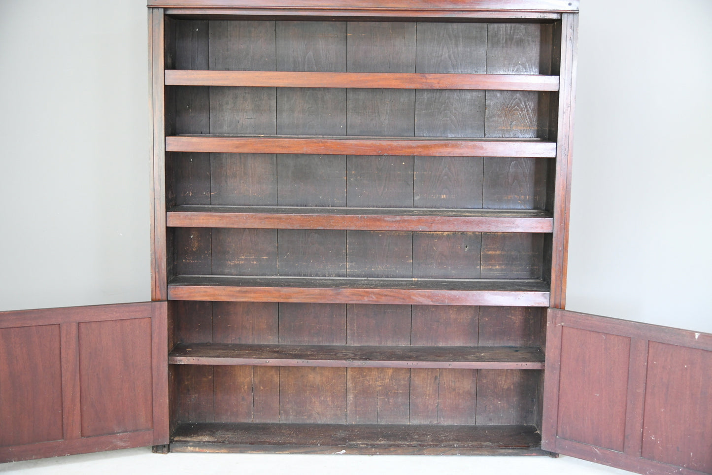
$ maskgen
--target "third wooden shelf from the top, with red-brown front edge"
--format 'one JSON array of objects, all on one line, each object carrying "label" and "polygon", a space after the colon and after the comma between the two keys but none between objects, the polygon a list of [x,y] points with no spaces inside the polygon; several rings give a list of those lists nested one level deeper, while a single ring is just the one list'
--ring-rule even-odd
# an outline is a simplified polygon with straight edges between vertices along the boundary
[{"label": "third wooden shelf from the top, with red-brown front edge", "polygon": [[259,229],[362,229],[550,233],[553,218],[536,209],[402,209],[179,206],[167,226]]}]

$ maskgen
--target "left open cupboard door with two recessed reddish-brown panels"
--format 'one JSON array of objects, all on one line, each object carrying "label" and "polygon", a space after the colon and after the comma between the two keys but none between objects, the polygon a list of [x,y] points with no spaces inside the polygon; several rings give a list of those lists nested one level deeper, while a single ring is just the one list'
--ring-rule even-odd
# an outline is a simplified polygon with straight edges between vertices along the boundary
[{"label": "left open cupboard door with two recessed reddish-brown panels", "polygon": [[0,313],[0,462],[168,442],[165,302]]}]

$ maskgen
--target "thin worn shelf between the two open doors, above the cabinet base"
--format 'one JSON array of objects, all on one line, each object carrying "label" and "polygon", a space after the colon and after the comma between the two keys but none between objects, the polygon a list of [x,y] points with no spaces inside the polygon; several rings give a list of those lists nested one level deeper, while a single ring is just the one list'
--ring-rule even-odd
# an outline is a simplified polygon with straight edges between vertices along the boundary
[{"label": "thin worn shelf between the two open doors, above the cabinet base", "polygon": [[177,345],[174,365],[318,367],[416,367],[541,370],[544,353],[527,347],[356,346],[356,345]]}]

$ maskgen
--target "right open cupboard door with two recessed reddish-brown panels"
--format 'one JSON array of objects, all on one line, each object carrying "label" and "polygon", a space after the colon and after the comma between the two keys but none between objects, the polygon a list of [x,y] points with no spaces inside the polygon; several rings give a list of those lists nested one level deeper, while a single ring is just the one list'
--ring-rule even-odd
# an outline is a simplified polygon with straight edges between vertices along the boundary
[{"label": "right open cupboard door with two recessed reddish-brown panels", "polygon": [[542,448],[712,474],[712,335],[549,309]]}]

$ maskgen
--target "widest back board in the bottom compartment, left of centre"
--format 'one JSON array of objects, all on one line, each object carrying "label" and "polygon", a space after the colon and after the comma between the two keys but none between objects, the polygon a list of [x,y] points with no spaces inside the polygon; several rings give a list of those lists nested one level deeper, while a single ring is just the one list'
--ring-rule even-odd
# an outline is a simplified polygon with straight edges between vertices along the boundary
[{"label": "widest back board in the bottom compartment, left of centre", "polygon": [[345,423],[346,368],[280,368],[281,422]]}]

